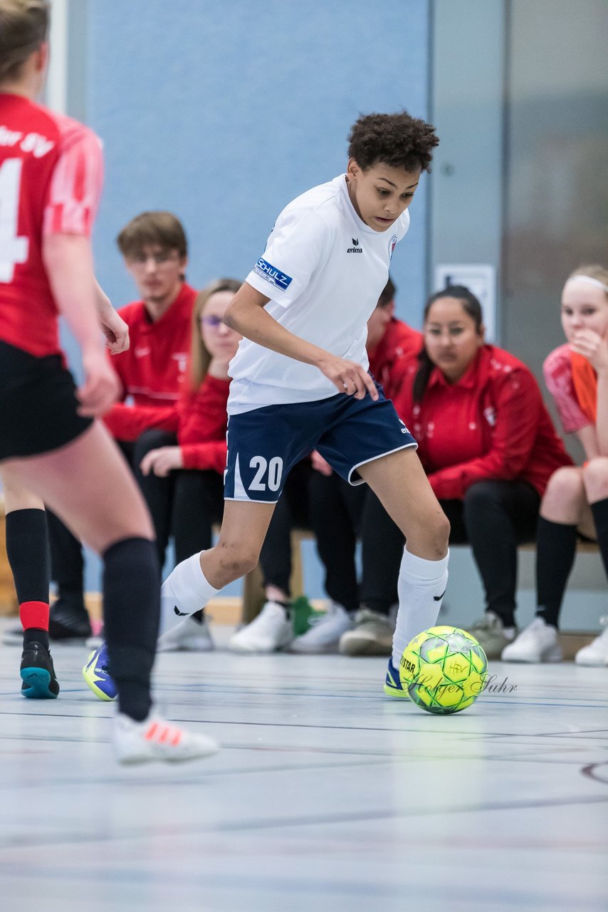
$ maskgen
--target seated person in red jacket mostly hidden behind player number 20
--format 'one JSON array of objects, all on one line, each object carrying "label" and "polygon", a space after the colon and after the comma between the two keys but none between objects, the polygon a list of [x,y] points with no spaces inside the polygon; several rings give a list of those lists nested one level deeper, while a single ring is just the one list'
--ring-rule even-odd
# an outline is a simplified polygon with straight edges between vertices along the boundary
[{"label": "seated person in red jacket mostly hidden behind player number 20", "polygon": [[[422,336],[395,316],[396,288],[391,279],[367,321],[369,369],[393,398],[404,372],[420,351]],[[310,513],[319,557],[325,567],[329,608],[322,621],[292,643],[297,652],[340,651],[348,655],[390,655],[393,626],[386,617],[359,612],[355,547],[367,485],[353,487],[318,454],[311,478]],[[395,599],[397,601],[397,598]],[[387,649],[387,651],[386,651]]]}]

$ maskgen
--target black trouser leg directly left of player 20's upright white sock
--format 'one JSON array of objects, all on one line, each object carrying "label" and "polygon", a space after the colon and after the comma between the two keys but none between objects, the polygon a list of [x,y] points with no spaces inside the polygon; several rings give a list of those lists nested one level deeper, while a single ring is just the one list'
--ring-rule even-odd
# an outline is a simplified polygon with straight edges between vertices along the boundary
[{"label": "black trouser leg directly left of player 20's upright white sock", "polygon": [[361,521],[361,541],[361,603],[373,611],[388,615],[391,606],[399,600],[397,578],[405,540],[371,489],[367,492]]}]

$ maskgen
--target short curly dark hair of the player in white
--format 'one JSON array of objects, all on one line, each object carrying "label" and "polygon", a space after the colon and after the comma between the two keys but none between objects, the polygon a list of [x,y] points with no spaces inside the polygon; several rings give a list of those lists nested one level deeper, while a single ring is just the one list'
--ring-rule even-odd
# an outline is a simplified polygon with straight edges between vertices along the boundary
[{"label": "short curly dark hair of the player in white", "polygon": [[364,114],[351,128],[348,158],[367,171],[378,161],[406,171],[430,171],[439,140],[435,128],[406,110],[397,114]]}]

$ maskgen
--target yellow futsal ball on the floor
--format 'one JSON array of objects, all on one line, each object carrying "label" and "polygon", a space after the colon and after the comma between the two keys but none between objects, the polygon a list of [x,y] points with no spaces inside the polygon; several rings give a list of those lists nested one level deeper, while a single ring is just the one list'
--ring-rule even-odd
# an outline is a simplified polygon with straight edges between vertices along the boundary
[{"label": "yellow futsal ball on the floor", "polygon": [[448,715],[477,700],[487,669],[485,652],[466,630],[429,627],[404,649],[399,678],[420,709]]}]

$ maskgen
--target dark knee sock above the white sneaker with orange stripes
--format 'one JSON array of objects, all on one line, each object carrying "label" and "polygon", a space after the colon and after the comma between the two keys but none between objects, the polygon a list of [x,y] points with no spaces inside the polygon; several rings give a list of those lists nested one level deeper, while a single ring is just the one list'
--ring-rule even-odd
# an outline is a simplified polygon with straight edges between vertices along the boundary
[{"label": "dark knee sock above the white sneaker with orange stripes", "polygon": [[149,679],[159,636],[160,569],[154,542],[126,538],[103,554],[109,673],[120,711],[141,721],[151,706]]}]

